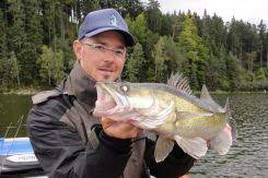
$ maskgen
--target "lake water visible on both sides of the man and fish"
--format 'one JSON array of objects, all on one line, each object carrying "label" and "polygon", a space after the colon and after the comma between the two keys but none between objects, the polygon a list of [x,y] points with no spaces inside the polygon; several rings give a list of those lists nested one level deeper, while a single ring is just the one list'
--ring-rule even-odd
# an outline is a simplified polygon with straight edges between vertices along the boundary
[{"label": "lake water visible on both sides of the man and fish", "polygon": [[[213,95],[224,105],[228,95]],[[231,94],[232,115],[236,121],[238,138],[228,155],[220,156],[213,151],[198,161],[190,170],[190,177],[267,177],[268,176],[268,94]],[[0,137],[5,127],[16,124],[24,116],[25,124],[30,96],[0,94]],[[16,129],[10,129],[9,137]],[[19,132],[25,137],[25,126]]]}]

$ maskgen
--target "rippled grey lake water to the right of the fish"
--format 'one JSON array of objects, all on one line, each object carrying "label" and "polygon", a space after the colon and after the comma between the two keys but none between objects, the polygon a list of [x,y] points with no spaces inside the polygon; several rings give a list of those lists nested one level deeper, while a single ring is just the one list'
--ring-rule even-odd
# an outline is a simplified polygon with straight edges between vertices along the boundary
[{"label": "rippled grey lake water to the right of the fish", "polygon": [[[226,95],[217,95],[224,103]],[[238,138],[225,156],[209,151],[190,170],[191,177],[267,177],[268,95],[236,94],[230,98]]]}]

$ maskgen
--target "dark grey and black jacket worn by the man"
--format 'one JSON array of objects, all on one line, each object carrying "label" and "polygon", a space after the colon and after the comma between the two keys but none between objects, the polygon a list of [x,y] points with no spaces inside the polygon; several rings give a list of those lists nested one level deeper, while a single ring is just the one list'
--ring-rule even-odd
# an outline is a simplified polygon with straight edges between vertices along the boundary
[{"label": "dark grey and black jacket worn by the man", "polygon": [[195,159],[177,145],[156,164],[154,142],[143,134],[135,140],[106,135],[92,116],[94,83],[77,62],[59,87],[32,98],[27,133],[49,177],[141,178],[150,171],[155,177],[175,178],[190,169]]}]

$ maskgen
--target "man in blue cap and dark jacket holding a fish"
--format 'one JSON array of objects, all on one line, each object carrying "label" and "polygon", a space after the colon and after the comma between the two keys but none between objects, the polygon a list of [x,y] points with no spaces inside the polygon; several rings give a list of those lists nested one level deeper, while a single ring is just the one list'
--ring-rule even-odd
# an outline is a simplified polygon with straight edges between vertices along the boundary
[{"label": "man in blue cap and dark jacket holding a fish", "polygon": [[[114,9],[89,13],[73,43],[77,62],[54,91],[33,96],[27,132],[49,177],[141,178],[178,177],[194,158],[175,146],[156,164],[154,142],[140,129],[108,118],[94,118],[95,81],[116,81],[135,40]],[[135,138],[135,139],[132,139]],[[150,170],[150,173],[149,173]]]}]

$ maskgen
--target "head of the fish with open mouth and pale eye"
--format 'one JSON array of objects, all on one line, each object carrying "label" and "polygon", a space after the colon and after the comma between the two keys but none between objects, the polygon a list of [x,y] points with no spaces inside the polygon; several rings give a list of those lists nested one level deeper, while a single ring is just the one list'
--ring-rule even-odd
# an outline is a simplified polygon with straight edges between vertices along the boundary
[{"label": "head of the fish with open mouth and pale eye", "polygon": [[158,98],[153,88],[141,83],[96,82],[97,100],[94,116],[113,118],[142,117],[141,110],[150,109]]}]

